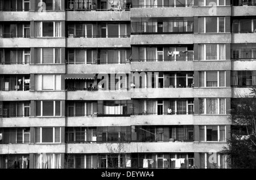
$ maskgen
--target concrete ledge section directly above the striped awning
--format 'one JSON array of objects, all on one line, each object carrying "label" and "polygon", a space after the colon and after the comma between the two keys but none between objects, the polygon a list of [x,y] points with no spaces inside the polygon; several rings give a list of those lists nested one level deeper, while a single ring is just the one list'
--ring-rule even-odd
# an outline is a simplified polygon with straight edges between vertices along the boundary
[{"label": "concrete ledge section directly above the striped awning", "polygon": [[129,64],[74,64],[67,65],[67,74],[131,73]]}]

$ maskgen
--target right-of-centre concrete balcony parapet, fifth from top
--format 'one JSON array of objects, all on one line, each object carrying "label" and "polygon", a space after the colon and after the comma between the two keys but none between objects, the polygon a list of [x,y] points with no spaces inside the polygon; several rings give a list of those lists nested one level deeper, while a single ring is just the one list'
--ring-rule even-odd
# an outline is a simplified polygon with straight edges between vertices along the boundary
[{"label": "right-of-centre concrete balcony parapet, fifth from top", "polygon": [[134,115],[130,125],[193,125],[193,115]]}]

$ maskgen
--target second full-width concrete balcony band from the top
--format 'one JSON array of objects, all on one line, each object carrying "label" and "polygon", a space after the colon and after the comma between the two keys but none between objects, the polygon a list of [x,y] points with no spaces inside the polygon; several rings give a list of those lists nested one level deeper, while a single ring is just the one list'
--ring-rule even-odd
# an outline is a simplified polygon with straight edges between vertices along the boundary
[{"label": "second full-width concrete balcony band from the top", "polygon": [[1,38],[5,48],[130,48],[131,45],[152,44],[230,44],[255,43],[256,34],[164,34],[131,35],[130,38]]}]

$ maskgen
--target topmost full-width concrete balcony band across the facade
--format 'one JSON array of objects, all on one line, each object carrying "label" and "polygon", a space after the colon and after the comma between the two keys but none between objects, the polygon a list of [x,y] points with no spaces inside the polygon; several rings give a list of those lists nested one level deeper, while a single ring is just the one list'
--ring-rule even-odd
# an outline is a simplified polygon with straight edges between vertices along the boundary
[{"label": "topmost full-width concrete balcony band across the facade", "polygon": [[[207,16],[212,7],[162,7],[132,8],[130,11],[0,11],[0,21],[30,20],[126,20],[130,18],[170,17],[170,16]],[[214,13],[215,12],[215,13]],[[217,7],[213,16],[256,15],[255,6]],[[67,18],[67,19],[66,19]]]}]

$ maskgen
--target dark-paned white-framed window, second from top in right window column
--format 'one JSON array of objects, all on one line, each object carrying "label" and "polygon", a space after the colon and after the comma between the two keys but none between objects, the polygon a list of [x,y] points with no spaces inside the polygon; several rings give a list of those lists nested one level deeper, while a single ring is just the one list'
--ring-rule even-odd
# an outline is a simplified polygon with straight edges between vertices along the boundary
[{"label": "dark-paned white-framed window, second from top in right window column", "polygon": [[225,17],[199,17],[199,33],[224,33]]}]

